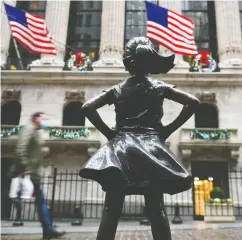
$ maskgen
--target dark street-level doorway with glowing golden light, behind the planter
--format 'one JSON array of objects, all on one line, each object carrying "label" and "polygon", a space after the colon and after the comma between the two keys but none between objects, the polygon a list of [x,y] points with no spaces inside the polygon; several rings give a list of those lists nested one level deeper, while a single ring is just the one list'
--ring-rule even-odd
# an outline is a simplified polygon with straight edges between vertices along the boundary
[{"label": "dark street-level doorway with glowing golden light, behind the planter", "polygon": [[203,220],[204,201],[210,199],[210,192],[214,187],[220,187],[229,198],[228,163],[193,161],[193,209],[194,220]]}]

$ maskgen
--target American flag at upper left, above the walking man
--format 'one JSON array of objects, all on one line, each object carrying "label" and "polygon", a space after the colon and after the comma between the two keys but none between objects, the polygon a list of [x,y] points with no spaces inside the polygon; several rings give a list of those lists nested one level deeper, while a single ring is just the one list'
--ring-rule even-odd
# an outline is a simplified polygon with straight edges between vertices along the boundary
[{"label": "American flag at upper left, above the walking man", "polygon": [[4,4],[12,36],[29,51],[36,54],[56,55],[45,19]]}]

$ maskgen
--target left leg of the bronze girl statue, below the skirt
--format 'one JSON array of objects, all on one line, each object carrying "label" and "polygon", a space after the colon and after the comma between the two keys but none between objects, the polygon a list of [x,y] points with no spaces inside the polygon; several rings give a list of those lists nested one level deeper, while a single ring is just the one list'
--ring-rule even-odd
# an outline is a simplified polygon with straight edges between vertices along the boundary
[{"label": "left leg of the bronze girl statue, below the skirt", "polygon": [[97,240],[114,240],[124,198],[125,194],[120,188],[107,191]]}]

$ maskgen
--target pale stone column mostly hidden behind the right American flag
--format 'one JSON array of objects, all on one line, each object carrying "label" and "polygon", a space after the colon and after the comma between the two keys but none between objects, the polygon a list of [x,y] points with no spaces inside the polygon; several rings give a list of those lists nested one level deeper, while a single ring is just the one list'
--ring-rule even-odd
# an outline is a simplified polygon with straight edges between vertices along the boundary
[{"label": "pale stone column mostly hidden behind the right American flag", "polygon": [[[165,7],[170,10],[173,10],[177,13],[181,13],[181,11],[182,11],[182,9],[181,9],[182,1],[177,1],[177,0],[163,0],[162,1],[162,0],[160,0],[159,5],[161,7]],[[162,54],[163,56],[169,56],[169,55],[174,54],[172,51],[168,50],[167,48],[163,47],[162,45],[160,45],[159,53]],[[176,54],[175,64],[176,64],[176,66],[170,72],[188,72],[189,63],[187,63],[183,60],[182,55]]]}]

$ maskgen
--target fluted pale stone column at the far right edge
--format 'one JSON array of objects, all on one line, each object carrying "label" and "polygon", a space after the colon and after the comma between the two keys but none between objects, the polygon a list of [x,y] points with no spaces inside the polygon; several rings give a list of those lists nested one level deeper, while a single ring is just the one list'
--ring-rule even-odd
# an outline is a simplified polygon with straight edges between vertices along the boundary
[{"label": "fluted pale stone column at the far right edge", "polygon": [[241,71],[242,40],[238,0],[215,1],[215,12],[220,70]]}]

